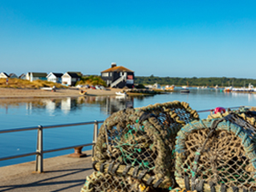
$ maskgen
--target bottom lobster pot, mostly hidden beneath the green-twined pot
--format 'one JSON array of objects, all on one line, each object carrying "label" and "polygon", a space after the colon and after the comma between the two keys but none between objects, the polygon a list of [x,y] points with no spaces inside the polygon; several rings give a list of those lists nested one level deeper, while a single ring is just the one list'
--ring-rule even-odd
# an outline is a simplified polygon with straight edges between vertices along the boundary
[{"label": "bottom lobster pot, mostly hidden beneath the green-twined pot", "polygon": [[81,192],[150,192],[150,187],[139,180],[122,175],[111,175],[102,172],[93,172],[86,177]]}]

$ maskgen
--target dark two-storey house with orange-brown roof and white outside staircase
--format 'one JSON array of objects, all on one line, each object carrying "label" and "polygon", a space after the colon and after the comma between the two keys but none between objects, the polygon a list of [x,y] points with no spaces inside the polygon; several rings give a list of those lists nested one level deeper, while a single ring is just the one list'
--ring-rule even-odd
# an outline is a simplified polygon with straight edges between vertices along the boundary
[{"label": "dark two-storey house with orange-brown roof and white outside staircase", "polygon": [[134,72],[128,68],[111,63],[111,67],[101,72],[102,79],[110,87],[132,88],[134,86]]}]

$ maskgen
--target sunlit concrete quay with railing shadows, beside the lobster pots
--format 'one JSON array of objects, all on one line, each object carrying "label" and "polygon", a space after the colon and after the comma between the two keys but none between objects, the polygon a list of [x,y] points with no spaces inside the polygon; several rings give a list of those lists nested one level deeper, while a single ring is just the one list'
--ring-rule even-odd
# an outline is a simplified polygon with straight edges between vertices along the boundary
[{"label": "sunlit concrete quay with railing shadows, beside the lobster pots", "polygon": [[0,167],[0,191],[79,192],[93,172],[91,150],[84,158],[68,155],[44,159],[44,172],[35,172],[35,161]]}]

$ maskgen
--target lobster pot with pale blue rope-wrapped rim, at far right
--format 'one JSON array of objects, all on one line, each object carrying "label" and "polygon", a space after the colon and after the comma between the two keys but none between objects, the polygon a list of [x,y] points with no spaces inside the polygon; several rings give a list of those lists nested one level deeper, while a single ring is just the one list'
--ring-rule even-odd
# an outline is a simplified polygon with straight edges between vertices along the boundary
[{"label": "lobster pot with pale blue rope-wrapped rim, at far right", "polygon": [[197,191],[256,191],[255,128],[236,114],[177,133],[176,182]]}]

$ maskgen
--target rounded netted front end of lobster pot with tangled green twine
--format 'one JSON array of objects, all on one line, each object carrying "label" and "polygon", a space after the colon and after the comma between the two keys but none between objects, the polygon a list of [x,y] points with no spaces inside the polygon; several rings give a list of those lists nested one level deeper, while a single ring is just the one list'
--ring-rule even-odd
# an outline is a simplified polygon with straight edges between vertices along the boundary
[{"label": "rounded netted front end of lobster pot with tangled green twine", "polygon": [[99,131],[93,158],[96,170],[105,172],[106,166],[115,174],[139,179],[149,174],[148,185],[168,188],[173,164],[167,136],[166,128],[150,113],[131,108],[113,113]]}]

